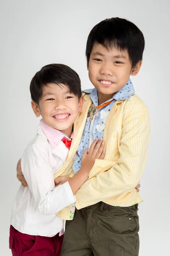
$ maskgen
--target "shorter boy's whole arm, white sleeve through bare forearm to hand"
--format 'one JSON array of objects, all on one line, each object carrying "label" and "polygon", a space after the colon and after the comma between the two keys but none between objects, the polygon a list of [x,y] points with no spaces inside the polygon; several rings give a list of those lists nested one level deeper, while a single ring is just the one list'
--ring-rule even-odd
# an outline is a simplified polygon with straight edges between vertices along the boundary
[{"label": "shorter boy's whole arm, white sleeve through bare forearm to hand", "polygon": [[88,174],[95,159],[103,159],[104,143],[96,140],[91,148],[85,150],[82,157],[82,167],[69,181],[55,187],[54,171],[48,162],[47,151],[36,145],[26,149],[21,159],[23,175],[35,199],[40,212],[45,215],[54,214],[75,202],[74,193],[88,179]]}]

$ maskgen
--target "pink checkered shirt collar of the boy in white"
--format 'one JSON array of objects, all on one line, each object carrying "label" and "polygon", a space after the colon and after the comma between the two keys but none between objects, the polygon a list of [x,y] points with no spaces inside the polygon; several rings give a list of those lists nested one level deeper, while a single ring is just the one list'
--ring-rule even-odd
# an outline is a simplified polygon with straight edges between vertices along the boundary
[{"label": "pink checkered shirt collar of the boy in white", "polygon": [[[61,131],[47,125],[43,119],[40,120],[40,125],[42,128],[42,131],[44,132],[45,136],[47,137],[47,140],[49,141],[53,149],[59,144],[59,142],[62,140],[63,137],[68,138]],[[71,138],[68,138],[68,139],[71,140],[72,138],[73,138],[73,133],[71,134]]]}]

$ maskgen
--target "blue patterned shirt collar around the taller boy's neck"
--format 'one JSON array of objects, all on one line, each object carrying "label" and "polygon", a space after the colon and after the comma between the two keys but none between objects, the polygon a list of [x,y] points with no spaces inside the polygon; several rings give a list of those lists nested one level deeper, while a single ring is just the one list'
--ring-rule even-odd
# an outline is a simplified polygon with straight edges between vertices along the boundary
[{"label": "blue patterned shirt collar around the taller boy's neck", "polygon": [[[98,96],[97,96],[97,89],[96,88],[83,90],[83,92],[89,93],[89,96],[91,97],[94,105],[98,106]],[[111,99],[116,99],[118,101],[122,101],[122,100],[125,100],[125,99],[130,99],[130,96],[132,96],[134,93],[135,93],[135,89],[133,87],[132,81],[129,78],[129,80],[127,81],[125,86],[121,90],[114,93],[114,95]],[[108,99],[106,102],[110,101],[111,99]],[[104,102],[104,103],[106,103],[106,102]],[[102,103],[102,104],[104,104],[104,103]]]}]

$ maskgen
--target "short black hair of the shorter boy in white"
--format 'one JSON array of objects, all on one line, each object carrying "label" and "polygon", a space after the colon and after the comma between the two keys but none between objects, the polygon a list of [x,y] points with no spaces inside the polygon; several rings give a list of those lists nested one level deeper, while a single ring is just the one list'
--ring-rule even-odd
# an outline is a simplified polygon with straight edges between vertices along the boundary
[{"label": "short black hair of the shorter boy in white", "polygon": [[31,99],[39,103],[42,98],[42,88],[49,83],[65,84],[71,93],[79,99],[82,96],[79,75],[64,64],[48,64],[38,71],[30,83]]}]

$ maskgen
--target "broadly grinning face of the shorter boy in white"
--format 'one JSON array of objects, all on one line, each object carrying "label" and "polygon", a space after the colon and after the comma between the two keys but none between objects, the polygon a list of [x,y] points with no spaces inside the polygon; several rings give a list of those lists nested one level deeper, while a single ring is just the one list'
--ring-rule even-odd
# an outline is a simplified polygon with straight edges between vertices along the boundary
[{"label": "broadly grinning face of the shorter boy in white", "polygon": [[82,102],[66,85],[51,83],[43,87],[39,104],[32,101],[31,105],[37,117],[41,115],[47,125],[70,137],[73,123],[82,111]]}]

